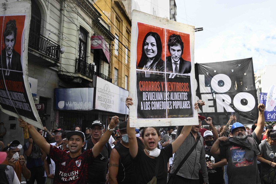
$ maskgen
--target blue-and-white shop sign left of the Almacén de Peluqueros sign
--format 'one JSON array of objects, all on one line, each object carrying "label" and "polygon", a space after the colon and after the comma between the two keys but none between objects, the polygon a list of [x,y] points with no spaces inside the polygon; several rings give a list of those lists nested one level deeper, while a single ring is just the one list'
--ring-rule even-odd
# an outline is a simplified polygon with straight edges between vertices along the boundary
[{"label": "blue-and-white shop sign left of the Almac\u00e9n de Peluqueros sign", "polygon": [[57,110],[93,110],[94,88],[56,88]]}]

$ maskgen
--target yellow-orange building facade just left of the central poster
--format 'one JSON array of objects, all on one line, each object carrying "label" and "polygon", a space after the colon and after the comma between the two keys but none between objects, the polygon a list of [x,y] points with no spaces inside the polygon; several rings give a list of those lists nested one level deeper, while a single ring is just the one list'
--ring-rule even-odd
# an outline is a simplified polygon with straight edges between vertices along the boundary
[{"label": "yellow-orange building facade just left of the central poster", "polygon": [[110,78],[114,84],[128,90],[131,20],[121,0],[94,2],[94,7],[102,14],[102,19],[109,24],[110,32],[115,37],[111,42]]}]

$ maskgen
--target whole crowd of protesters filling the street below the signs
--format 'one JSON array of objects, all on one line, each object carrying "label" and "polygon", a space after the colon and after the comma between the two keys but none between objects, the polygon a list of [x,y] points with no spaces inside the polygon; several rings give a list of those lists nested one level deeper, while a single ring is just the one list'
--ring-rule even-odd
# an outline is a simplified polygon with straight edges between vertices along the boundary
[{"label": "whole crowd of protesters filling the street below the signs", "polygon": [[[132,104],[127,97],[127,107]],[[205,102],[199,100],[194,108],[202,105]],[[18,140],[1,144],[0,180],[21,183],[24,177],[27,184],[274,183],[267,173],[275,173],[276,131],[270,125],[264,127],[264,104],[258,109],[251,129],[234,114],[218,128],[211,117],[199,114],[198,125],[140,129],[130,127],[129,120],[119,123],[114,116],[107,127],[94,120],[84,131],[60,127],[51,132],[19,119],[30,138],[25,144]]]}]

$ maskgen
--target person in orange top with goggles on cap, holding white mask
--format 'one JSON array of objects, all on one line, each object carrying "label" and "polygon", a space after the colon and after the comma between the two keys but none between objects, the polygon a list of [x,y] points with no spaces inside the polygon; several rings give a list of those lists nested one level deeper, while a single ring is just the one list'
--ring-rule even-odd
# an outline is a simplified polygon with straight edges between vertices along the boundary
[{"label": "person in orange top with goggles on cap, holding white mask", "polygon": [[7,159],[2,164],[7,164],[13,167],[19,181],[21,182],[21,174],[26,179],[30,179],[31,172],[25,165],[25,158],[23,155],[19,155],[22,149],[22,145],[18,140],[12,141],[7,145]]}]

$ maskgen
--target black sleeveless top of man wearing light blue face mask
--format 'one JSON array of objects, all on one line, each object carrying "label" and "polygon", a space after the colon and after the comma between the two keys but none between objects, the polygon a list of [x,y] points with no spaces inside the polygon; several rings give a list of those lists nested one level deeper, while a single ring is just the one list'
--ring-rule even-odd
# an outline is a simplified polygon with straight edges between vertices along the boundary
[{"label": "black sleeveless top of man wearing light blue face mask", "polygon": [[[136,137],[138,149],[144,150],[144,145],[142,141]],[[129,153],[129,148],[126,148],[119,142],[115,145],[114,149],[117,150],[120,155],[119,168],[117,174],[118,184],[136,184],[136,179],[134,175],[134,168],[131,160],[131,155]]]}]

